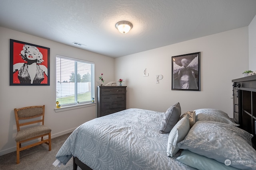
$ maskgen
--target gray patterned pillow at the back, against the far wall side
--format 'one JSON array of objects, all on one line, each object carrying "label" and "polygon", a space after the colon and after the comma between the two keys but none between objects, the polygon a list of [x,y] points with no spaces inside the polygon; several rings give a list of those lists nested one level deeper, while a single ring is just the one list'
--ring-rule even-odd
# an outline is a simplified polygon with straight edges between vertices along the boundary
[{"label": "gray patterned pillow at the back, against the far wall side", "polygon": [[227,123],[233,126],[239,126],[234,123],[227,113],[218,109],[196,109],[196,121],[218,121],[222,123]]}]

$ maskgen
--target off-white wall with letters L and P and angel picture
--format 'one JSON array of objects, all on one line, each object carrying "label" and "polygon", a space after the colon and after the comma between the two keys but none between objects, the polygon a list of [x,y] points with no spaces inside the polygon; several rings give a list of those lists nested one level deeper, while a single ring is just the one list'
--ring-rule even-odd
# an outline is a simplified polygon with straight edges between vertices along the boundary
[{"label": "off-white wall with letters L and P and angel picture", "polygon": [[[201,91],[171,90],[172,56],[195,52],[201,52]],[[115,69],[127,85],[128,108],[164,112],[180,102],[182,112],[216,108],[233,117],[231,80],[248,70],[248,27],[119,57]],[[159,84],[156,74],[163,75]]]}]

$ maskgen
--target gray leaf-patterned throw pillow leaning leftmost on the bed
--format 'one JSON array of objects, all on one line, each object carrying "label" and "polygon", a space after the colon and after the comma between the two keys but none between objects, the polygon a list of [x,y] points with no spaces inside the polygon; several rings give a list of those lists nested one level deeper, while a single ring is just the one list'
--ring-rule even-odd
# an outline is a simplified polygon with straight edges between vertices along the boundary
[{"label": "gray leaf-patterned throw pillow leaning leftmost on the bed", "polygon": [[173,106],[171,106],[167,111],[165,112],[164,118],[162,119],[161,126],[160,126],[160,132],[161,133],[169,133],[174,125],[178,122],[178,119],[180,118],[181,114],[181,108],[180,103],[176,103]]}]

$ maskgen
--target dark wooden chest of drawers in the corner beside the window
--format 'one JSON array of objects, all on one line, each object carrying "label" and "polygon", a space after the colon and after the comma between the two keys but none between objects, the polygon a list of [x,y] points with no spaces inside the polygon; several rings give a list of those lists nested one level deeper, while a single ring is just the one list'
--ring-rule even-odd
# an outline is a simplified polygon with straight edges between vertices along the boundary
[{"label": "dark wooden chest of drawers in the corner beside the window", "polygon": [[98,117],[126,109],[126,86],[98,86]]}]

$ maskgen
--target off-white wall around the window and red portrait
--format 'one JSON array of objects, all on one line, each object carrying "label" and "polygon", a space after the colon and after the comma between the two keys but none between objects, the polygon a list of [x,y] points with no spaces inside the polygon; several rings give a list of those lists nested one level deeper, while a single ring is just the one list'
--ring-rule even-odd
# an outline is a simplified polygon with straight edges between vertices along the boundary
[{"label": "off-white wall around the window and red portrait", "polygon": [[[9,86],[10,39],[50,48],[50,86]],[[17,130],[14,108],[45,105],[45,125],[52,128],[52,138],[73,131],[82,123],[96,117],[97,105],[57,113],[54,111],[56,107],[55,58],[57,54],[95,62],[96,85],[99,84],[100,73],[104,73],[106,82],[114,80],[113,58],[4,27],[0,27],[0,51],[2,61],[0,63],[0,155],[16,150],[14,139]],[[97,101],[97,97],[95,101]]]}]

